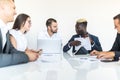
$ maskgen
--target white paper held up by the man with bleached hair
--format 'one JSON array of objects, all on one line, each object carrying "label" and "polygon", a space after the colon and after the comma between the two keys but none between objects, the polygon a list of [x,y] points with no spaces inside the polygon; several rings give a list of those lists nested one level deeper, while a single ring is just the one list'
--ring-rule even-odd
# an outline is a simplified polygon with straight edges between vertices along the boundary
[{"label": "white paper held up by the man with bleached hair", "polygon": [[75,46],[75,50],[78,50],[81,46],[83,46],[87,50],[91,50],[91,43],[89,37],[86,38],[75,38],[75,40],[78,40],[81,42],[80,46]]}]

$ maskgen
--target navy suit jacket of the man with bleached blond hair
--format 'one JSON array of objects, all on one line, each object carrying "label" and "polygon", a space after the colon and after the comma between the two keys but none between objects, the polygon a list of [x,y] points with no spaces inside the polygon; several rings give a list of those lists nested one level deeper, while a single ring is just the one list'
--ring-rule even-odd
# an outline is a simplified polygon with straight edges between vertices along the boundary
[{"label": "navy suit jacket of the man with bleached blond hair", "polygon": [[[98,37],[96,37],[96,36],[94,36],[94,35],[91,35],[91,34],[89,34],[89,36],[90,36],[90,38],[94,41],[94,43],[95,43],[95,45],[93,46],[93,47],[91,47],[91,49],[92,50],[98,50],[98,51],[102,51],[102,47],[101,47],[101,44],[100,44],[100,42],[99,42],[99,39],[98,39]],[[71,47],[69,47],[69,43],[71,42],[71,41],[74,41],[74,39],[75,38],[78,38],[79,37],[79,35],[73,35],[72,37],[71,37],[71,39],[68,41],[68,43],[63,47],[63,52],[67,52]],[[92,51],[91,50],[91,51]],[[91,51],[89,51],[89,52],[91,52]],[[72,52],[75,52],[75,46],[73,46],[73,49],[72,49]]]}]

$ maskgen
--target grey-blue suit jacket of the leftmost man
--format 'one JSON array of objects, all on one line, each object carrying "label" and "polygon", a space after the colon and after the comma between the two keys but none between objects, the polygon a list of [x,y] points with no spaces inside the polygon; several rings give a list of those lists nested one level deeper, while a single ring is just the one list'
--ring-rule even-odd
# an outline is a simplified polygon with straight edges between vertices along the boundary
[{"label": "grey-blue suit jacket of the leftmost man", "polygon": [[2,49],[2,37],[0,33],[0,67],[28,62],[28,56],[24,52],[17,51],[12,46],[9,40],[9,33],[6,37],[6,44]]}]

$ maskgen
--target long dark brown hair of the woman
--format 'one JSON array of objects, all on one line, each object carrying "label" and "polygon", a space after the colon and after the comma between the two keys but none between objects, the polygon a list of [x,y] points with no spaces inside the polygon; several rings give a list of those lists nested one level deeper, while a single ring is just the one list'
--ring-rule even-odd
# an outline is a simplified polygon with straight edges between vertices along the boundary
[{"label": "long dark brown hair of the woman", "polygon": [[15,19],[15,22],[13,24],[13,29],[20,30],[21,26],[25,24],[27,18],[30,17],[27,14],[19,14],[17,18]]}]

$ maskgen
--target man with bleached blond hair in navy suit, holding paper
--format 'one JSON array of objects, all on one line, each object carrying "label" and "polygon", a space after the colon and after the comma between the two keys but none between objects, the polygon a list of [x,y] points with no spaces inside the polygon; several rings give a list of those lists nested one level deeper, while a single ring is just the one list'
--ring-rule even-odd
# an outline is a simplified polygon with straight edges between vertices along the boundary
[{"label": "man with bleached blond hair in navy suit, holding paper", "polygon": [[75,40],[75,38],[82,38],[83,40],[88,38],[90,41],[91,49],[87,50],[84,46],[81,45],[81,48],[84,48],[84,50],[87,50],[88,52],[91,52],[92,50],[102,51],[98,37],[87,32],[86,19],[78,19],[75,25],[75,29],[77,34],[73,35],[68,43],[63,47],[63,52],[67,52],[71,47],[73,47],[72,52],[76,52],[75,46],[80,46],[82,44],[82,41]]}]

